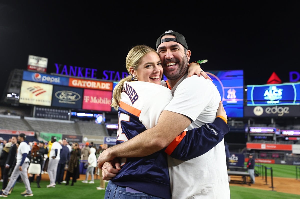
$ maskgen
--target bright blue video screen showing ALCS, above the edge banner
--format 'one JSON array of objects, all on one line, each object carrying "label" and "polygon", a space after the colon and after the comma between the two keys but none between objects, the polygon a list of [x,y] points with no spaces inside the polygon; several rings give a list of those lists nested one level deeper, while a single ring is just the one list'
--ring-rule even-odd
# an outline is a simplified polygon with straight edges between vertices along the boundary
[{"label": "bright blue video screen showing ALCS, above the edge banner", "polygon": [[247,85],[247,106],[300,105],[300,82]]}]

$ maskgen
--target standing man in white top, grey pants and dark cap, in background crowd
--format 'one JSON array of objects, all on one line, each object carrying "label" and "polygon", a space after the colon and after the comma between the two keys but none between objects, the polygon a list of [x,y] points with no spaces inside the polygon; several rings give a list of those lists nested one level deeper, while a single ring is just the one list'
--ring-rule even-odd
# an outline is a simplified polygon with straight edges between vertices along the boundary
[{"label": "standing man in white top, grey pants and dark cap, in background crowd", "polygon": [[55,180],[56,180],[56,173],[57,173],[57,166],[58,162],[60,159],[60,150],[61,150],[61,145],[56,141],[56,137],[52,136],[51,137],[51,149],[49,153],[49,163],[48,163],[48,175],[49,175],[49,180],[50,184],[47,185],[47,188],[49,187],[55,187]]}]

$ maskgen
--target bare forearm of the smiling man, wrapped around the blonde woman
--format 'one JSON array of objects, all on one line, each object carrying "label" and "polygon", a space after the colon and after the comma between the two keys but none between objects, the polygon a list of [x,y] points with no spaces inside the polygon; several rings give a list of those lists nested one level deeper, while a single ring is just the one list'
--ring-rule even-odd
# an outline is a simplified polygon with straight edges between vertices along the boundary
[{"label": "bare forearm of the smiling man, wrapped around the blonde woman", "polygon": [[[173,122],[180,121],[180,122]],[[98,157],[98,167],[115,157],[143,157],[168,146],[187,126],[190,119],[172,111],[163,111],[155,127],[132,139],[104,150]]]}]

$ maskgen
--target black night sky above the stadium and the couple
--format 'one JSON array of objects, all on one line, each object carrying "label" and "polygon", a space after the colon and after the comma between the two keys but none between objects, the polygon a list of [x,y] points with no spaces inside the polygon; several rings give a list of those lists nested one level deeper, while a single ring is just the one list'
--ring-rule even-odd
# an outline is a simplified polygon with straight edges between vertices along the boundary
[{"label": "black night sky above the stadium and the couple", "polygon": [[13,68],[27,69],[28,55],[48,58],[48,73],[55,63],[125,72],[128,49],[155,48],[167,30],[185,36],[190,61],[208,60],[205,70],[244,70],[244,85],[300,72],[298,1],[128,2],[2,1],[0,92]]}]

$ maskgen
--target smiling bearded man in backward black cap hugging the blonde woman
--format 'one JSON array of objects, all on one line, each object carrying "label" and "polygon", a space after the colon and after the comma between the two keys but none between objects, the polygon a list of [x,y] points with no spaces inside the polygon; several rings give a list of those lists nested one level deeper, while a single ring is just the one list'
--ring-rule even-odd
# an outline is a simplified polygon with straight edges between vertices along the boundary
[{"label": "smiling bearded man in backward black cap hugging the blonde woman", "polygon": [[[102,169],[104,179],[114,177],[121,169],[120,165],[112,169],[110,163],[103,165],[104,162],[116,157],[152,154],[168,146],[184,128],[190,130],[212,123],[216,117],[221,97],[215,85],[204,77],[187,78],[191,51],[184,36],[166,31],[158,38],[156,50],[172,88],[173,99],[155,127],[99,155],[98,167]],[[172,198],[230,198],[224,140],[207,153],[187,161],[168,156],[168,164]]]}]

